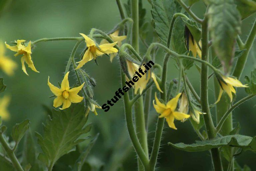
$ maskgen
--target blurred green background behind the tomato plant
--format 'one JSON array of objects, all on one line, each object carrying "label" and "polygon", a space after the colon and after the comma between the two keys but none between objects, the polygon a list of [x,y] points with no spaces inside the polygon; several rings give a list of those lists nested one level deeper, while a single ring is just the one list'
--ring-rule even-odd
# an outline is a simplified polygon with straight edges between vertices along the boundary
[{"label": "blurred green background behind the tomato plant", "polygon": [[[123,0],[126,3],[126,0]],[[146,19],[152,20],[148,1],[143,1],[143,7],[147,10]],[[203,10],[202,10],[203,9]],[[199,16],[203,17],[205,7],[202,3],[197,3],[192,8]],[[255,15],[245,19],[242,27],[242,39],[245,40]],[[14,41],[17,39],[37,40],[40,38],[51,37],[70,37],[79,36],[79,33],[88,34],[91,28],[98,28],[103,31],[111,30],[120,22],[119,11],[115,0],[15,0],[8,9],[4,11],[0,18],[0,40]],[[152,37],[152,28],[148,37]],[[58,84],[63,78],[66,63],[72,51],[75,41],[55,41],[41,42],[33,50],[32,59],[36,69],[40,73],[35,73],[27,67],[29,76],[21,70],[20,57],[14,57],[14,52],[7,50],[10,58],[18,64],[18,69],[13,77],[8,77],[3,72],[0,77],[4,78],[7,85],[6,91],[1,93],[11,95],[9,111],[11,118],[4,121],[8,127],[7,134],[10,134],[11,127],[25,118],[30,119],[32,132],[42,132],[42,122],[45,122],[46,111],[42,107],[52,106],[53,98],[48,85],[47,78],[50,76],[50,82]],[[141,55],[145,52],[141,44]],[[82,52],[84,45],[80,46],[79,52]],[[255,45],[252,47],[248,62],[246,64],[244,75],[250,75],[255,68]],[[157,56],[158,63],[163,56]],[[110,63],[107,56],[98,60],[99,66],[93,61],[87,63],[84,69],[97,81],[94,88],[95,99],[99,104],[104,104],[112,98],[114,92],[120,87],[120,67],[117,58]],[[169,63],[168,79],[177,77],[178,72],[174,62]],[[242,83],[244,83],[241,77]],[[195,89],[198,91],[200,86],[199,74],[195,67],[188,72]],[[73,80],[72,80],[73,79]],[[70,74],[70,83],[74,83],[74,73]],[[210,102],[214,102],[213,80],[210,80]],[[155,89],[155,88],[154,88]],[[245,96],[243,88],[238,88],[237,98]],[[239,122],[242,129],[241,134],[254,136],[256,130],[256,99],[247,101],[234,112],[234,123]],[[154,128],[156,121],[156,112],[151,106],[150,118],[152,124],[149,128],[149,145],[152,147]],[[212,115],[214,114],[212,109]],[[89,155],[89,162],[95,165],[105,165],[105,170],[114,170],[123,166],[126,171],[136,170],[136,156],[127,133],[124,120],[123,101],[119,100],[108,112],[98,110],[98,116],[90,113],[89,121],[93,123],[92,136],[100,133],[95,146]],[[167,142],[193,143],[199,140],[193,131],[190,123],[175,122],[178,130],[173,130],[165,125],[162,146],[158,159],[159,171],[186,171],[186,170],[211,170],[211,158],[208,152],[189,153],[174,149],[167,145]],[[86,142],[85,142],[86,144]],[[20,147],[19,150],[21,149]],[[247,164],[252,170],[256,170],[256,156],[251,152],[244,151],[237,157],[240,165]],[[98,164],[100,163],[100,164]]]}]

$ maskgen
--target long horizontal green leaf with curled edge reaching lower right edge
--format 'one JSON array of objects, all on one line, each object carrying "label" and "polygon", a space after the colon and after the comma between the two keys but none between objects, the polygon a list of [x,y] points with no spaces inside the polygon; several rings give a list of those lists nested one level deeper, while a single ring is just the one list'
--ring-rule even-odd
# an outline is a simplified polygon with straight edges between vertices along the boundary
[{"label": "long horizontal green leaf with curled edge reaching lower right edge", "polygon": [[211,140],[196,141],[194,144],[173,144],[170,142],[168,144],[177,149],[189,152],[207,151],[212,148],[219,148],[222,146],[240,147],[244,150],[251,150],[256,152],[256,136],[252,138],[244,135],[228,135]]}]

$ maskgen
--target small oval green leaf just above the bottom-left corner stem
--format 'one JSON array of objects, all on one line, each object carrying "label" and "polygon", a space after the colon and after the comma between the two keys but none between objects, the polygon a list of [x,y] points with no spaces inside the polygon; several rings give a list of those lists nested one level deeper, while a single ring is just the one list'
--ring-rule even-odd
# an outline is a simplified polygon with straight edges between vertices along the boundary
[{"label": "small oval green leaf just above the bottom-left corner stem", "polygon": [[16,125],[13,126],[11,136],[16,144],[20,142],[21,138],[24,136],[28,128],[29,128],[28,119],[24,120],[21,123],[16,123]]}]

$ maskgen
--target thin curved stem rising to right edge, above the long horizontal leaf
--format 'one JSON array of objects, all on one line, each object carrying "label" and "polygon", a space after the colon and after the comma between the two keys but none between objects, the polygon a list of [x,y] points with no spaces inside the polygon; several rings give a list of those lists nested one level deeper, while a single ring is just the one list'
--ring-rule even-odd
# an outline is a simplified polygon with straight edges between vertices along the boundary
[{"label": "thin curved stem rising to right edge, above the long horizontal leaf", "polygon": [[227,119],[228,115],[236,108],[238,107],[240,104],[242,104],[243,102],[251,99],[252,97],[254,97],[256,94],[251,94],[248,95],[247,97],[242,98],[241,100],[239,100],[238,102],[236,102],[232,107],[230,107],[228,109],[228,111],[222,116],[222,118],[220,119],[218,125],[216,126],[216,133],[218,133],[223,125],[223,123],[225,122],[225,120]]}]

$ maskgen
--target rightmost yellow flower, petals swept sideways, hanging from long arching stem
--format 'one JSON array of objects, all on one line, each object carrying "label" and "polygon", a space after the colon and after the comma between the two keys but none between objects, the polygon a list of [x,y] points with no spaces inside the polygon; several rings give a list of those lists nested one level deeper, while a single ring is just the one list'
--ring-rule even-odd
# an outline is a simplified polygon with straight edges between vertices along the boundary
[{"label": "rightmost yellow flower, petals swept sideways, hanging from long arching stem", "polygon": [[215,102],[215,104],[220,101],[223,91],[226,91],[226,93],[228,94],[228,96],[230,98],[230,101],[232,101],[233,100],[232,92],[236,93],[236,90],[234,87],[248,87],[247,85],[243,85],[239,80],[231,78],[231,77],[222,76],[222,79],[226,83],[219,80],[220,92],[219,92],[219,97],[218,97],[217,101]]}]

